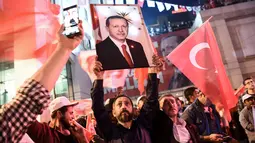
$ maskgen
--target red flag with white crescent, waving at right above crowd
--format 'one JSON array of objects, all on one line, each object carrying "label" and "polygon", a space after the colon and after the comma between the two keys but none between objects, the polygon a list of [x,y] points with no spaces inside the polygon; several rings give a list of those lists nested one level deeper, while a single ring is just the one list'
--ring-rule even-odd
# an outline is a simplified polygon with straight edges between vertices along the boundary
[{"label": "red flag with white crescent, waving at right above crowd", "polygon": [[236,106],[237,97],[227,77],[209,20],[167,58],[215,105],[223,105],[227,119],[231,120],[229,109]]}]

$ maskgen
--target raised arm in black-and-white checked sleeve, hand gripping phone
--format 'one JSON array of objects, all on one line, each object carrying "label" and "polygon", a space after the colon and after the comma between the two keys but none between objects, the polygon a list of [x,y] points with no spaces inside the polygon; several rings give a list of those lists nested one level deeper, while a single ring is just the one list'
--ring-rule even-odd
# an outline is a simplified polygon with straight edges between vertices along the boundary
[{"label": "raised arm in black-and-white checked sleeve, hand gripping phone", "polygon": [[[73,39],[65,37],[62,26],[58,32],[58,46],[45,64],[18,90],[15,98],[0,108],[0,142],[19,142],[28,127],[36,121],[37,115],[48,106],[49,91],[55,85],[71,52],[83,38],[81,23],[80,36]],[[51,74],[51,76],[49,76]]]}]

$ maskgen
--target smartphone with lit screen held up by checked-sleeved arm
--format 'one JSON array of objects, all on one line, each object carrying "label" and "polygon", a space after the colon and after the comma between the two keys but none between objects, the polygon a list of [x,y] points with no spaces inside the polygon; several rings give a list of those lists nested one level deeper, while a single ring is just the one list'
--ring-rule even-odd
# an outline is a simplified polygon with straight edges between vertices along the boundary
[{"label": "smartphone with lit screen held up by checked-sleeved arm", "polygon": [[78,6],[73,5],[63,9],[64,15],[64,35],[68,38],[73,38],[74,36],[81,35],[79,30],[79,13]]}]

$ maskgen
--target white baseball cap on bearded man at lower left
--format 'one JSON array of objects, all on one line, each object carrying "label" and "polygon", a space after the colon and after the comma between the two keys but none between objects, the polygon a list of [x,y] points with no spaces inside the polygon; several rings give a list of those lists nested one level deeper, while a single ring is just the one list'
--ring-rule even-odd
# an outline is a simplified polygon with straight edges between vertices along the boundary
[{"label": "white baseball cap on bearded man at lower left", "polygon": [[64,106],[75,106],[79,102],[71,103],[65,96],[57,97],[49,105],[50,114]]}]

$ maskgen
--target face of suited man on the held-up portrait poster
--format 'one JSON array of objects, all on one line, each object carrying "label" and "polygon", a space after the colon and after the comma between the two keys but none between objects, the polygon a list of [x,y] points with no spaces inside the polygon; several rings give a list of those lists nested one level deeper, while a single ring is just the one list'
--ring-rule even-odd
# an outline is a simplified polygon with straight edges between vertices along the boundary
[{"label": "face of suited man on the held-up portrait poster", "polygon": [[121,43],[125,42],[128,35],[128,24],[125,19],[121,18],[110,19],[109,26],[106,27],[106,29],[113,39]]}]

